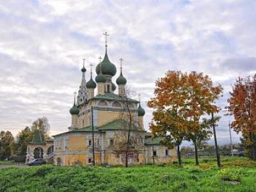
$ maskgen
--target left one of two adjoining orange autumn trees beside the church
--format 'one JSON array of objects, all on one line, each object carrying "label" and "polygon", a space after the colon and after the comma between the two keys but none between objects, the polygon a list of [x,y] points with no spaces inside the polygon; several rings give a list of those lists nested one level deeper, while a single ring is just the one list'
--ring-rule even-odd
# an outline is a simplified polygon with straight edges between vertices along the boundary
[{"label": "left one of two adjoining orange autumn trees beside the church", "polygon": [[166,76],[156,81],[154,97],[148,101],[148,107],[153,108],[153,119],[150,130],[154,136],[163,137],[162,143],[168,147],[177,146],[179,164],[180,144],[188,131],[185,102],[186,74],[180,71],[168,71]]}]

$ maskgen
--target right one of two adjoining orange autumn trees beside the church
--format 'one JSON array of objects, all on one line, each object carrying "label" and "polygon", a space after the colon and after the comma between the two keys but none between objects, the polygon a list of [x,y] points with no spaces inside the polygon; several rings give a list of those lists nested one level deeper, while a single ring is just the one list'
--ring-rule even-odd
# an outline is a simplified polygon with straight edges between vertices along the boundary
[{"label": "right one of two adjoining orange autumn trees beside the church", "polygon": [[202,129],[200,118],[211,113],[218,113],[221,108],[216,106],[216,100],[219,99],[222,93],[222,86],[213,86],[209,76],[204,76],[203,73],[191,72],[188,74],[186,83],[188,90],[188,100],[186,100],[187,118],[189,120],[189,134],[193,134],[195,147],[195,163],[198,163],[198,153],[196,141],[198,132]]}]

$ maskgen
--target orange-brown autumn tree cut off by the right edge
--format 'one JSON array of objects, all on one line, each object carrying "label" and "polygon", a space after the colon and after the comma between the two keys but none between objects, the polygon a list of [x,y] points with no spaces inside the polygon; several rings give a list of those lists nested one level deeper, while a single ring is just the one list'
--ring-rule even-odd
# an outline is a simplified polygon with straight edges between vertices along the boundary
[{"label": "orange-brown autumn tree cut off by the right edge", "polygon": [[234,116],[231,127],[243,134],[250,157],[256,160],[256,74],[236,80],[228,104],[228,115]]}]

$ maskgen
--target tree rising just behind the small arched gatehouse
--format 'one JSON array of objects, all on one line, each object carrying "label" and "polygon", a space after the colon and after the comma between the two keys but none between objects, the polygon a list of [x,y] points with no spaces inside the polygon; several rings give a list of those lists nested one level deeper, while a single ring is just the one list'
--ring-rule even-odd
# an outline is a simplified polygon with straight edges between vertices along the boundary
[{"label": "tree rising just behind the small arched gatehouse", "polygon": [[50,124],[48,122],[48,119],[45,116],[43,116],[42,118],[38,118],[32,123],[32,126],[31,126],[32,132],[35,132],[35,130],[38,128],[42,133],[43,140],[45,138],[49,138]]}]

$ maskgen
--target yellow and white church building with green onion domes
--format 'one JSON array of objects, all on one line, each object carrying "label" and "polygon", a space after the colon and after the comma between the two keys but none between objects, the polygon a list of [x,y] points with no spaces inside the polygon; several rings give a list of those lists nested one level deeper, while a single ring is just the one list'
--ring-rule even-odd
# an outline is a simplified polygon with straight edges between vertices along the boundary
[{"label": "yellow and white church building with green onion domes", "polygon": [[92,65],[87,82],[87,70],[84,65],[81,68],[81,84],[69,111],[71,125],[67,132],[53,136],[54,164],[124,165],[126,157],[128,164],[171,163],[177,159],[175,148],[161,145],[161,139],[152,139],[145,131],[145,110],[140,100],[129,98],[122,59],[114,83],[116,66],[109,60],[105,46],[105,56],[99,58],[95,68],[95,80]]}]

